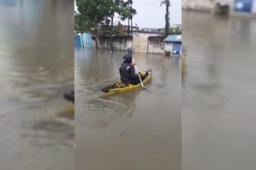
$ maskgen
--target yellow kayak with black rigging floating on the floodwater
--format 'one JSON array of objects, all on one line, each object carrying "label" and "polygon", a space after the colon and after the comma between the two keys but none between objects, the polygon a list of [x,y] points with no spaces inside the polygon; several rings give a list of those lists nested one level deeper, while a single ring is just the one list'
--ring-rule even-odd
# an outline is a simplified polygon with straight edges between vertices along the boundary
[{"label": "yellow kayak with black rigging floating on the floodwater", "polygon": [[[152,79],[152,70],[147,71],[148,75],[146,78],[142,81],[143,85],[149,83]],[[146,71],[141,71],[141,74],[146,74]],[[103,96],[108,95],[114,95],[119,94],[122,92],[133,90],[134,88],[142,87],[141,83],[139,84],[129,84],[129,83],[123,83],[123,82],[115,82],[113,84],[110,84],[109,86],[102,88],[101,91],[104,92]]]}]

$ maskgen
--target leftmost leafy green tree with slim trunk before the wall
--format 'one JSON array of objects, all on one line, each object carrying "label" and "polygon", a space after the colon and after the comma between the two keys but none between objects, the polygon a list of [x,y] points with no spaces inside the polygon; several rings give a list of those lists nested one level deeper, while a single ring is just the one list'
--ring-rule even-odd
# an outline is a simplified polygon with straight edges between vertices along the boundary
[{"label": "leftmost leafy green tree with slim trunk before the wall", "polygon": [[98,28],[105,17],[109,15],[111,0],[76,0],[77,10],[86,23],[86,27],[92,28],[96,37],[98,49]]}]

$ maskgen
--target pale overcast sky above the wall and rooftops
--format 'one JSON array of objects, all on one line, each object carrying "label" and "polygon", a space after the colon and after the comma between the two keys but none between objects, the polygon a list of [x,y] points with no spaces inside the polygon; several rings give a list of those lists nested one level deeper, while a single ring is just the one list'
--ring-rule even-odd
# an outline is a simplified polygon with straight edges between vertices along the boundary
[{"label": "pale overcast sky above the wall and rooftops", "polygon": [[[133,8],[137,10],[137,15],[133,18],[138,27],[164,28],[165,6],[160,7],[162,0],[133,0]],[[114,22],[119,19],[115,18]],[[127,21],[121,22],[127,24]],[[171,0],[170,24],[181,24],[181,0]]]}]

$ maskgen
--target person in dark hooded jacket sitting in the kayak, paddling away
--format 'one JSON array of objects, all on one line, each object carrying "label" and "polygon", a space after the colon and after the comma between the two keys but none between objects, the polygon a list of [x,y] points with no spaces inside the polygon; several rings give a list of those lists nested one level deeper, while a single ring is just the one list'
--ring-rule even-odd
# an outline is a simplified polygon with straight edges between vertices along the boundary
[{"label": "person in dark hooded jacket sitting in the kayak, paddling away", "polygon": [[133,61],[133,57],[131,56],[130,52],[128,52],[128,54],[125,54],[125,56],[123,56],[123,63],[119,68],[121,82],[123,83],[138,84],[138,83],[141,83],[139,78],[141,78],[141,80],[143,81],[148,75],[147,72],[145,75],[142,75],[141,73],[136,74],[134,69],[135,63],[132,61]]}]

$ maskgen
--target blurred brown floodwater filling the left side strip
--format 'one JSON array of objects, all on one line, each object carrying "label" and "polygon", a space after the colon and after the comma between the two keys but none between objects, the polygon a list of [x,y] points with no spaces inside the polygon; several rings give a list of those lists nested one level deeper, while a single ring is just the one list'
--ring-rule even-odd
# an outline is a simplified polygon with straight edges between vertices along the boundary
[{"label": "blurred brown floodwater filling the left side strip", "polygon": [[0,2],[1,169],[73,169],[73,2]]}]

